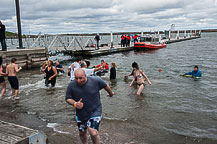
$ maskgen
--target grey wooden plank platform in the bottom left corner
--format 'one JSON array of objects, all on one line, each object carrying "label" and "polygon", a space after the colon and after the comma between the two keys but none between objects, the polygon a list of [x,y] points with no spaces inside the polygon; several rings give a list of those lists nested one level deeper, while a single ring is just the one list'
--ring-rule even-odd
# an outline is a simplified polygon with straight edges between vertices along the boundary
[{"label": "grey wooden plank platform in the bottom left corner", "polygon": [[0,121],[0,144],[47,144],[47,136],[37,130]]}]

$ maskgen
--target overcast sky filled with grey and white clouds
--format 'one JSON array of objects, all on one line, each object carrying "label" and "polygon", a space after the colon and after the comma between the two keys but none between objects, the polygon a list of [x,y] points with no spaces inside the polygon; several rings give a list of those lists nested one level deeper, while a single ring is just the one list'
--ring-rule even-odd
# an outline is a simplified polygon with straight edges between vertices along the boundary
[{"label": "overcast sky filled with grey and white clouds", "polygon": [[[216,29],[217,0],[20,0],[23,34]],[[0,0],[0,20],[17,32],[15,0]]]}]

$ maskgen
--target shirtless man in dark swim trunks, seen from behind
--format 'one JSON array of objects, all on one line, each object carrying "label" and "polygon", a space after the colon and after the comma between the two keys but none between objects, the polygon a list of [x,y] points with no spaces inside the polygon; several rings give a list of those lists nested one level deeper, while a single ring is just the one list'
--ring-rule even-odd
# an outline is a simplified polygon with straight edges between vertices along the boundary
[{"label": "shirtless man in dark swim trunks, seen from behind", "polygon": [[17,79],[17,72],[19,72],[22,67],[17,66],[16,64],[17,59],[12,58],[11,59],[11,64],[9,64],[6,68],[6,74],[8,75],[8,81],[11,85],[12,88],[12,93],[14,94],[15,99],[19,99],[18,95],[18,89],[19,89],[19,81]]}]

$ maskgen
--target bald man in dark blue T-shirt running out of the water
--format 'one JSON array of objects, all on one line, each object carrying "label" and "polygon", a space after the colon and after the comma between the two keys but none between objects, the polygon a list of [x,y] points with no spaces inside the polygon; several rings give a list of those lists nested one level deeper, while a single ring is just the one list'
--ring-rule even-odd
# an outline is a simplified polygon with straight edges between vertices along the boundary
[{"label": "bald man in dark blue T-shirt running out of the water", "polygon": [[68,85],[65,100],[75,107],[79,136],[83,144],[88,143],[87,132],[94,144],[100,143],[98,131],[102,118],[102,104],[99,91],[103,88],[110,97],[114,95],[109,85],[102,79],[87,77],[81,68],[75,70],[75,80]]}]

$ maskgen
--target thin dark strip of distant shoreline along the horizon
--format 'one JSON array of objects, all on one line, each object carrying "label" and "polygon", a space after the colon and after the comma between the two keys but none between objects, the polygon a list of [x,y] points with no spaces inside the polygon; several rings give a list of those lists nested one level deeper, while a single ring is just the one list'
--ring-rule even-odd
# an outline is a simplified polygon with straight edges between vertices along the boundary
[{"label": "thin dark strip of distant shoreline along the horizon", "polygon": [[[191,30],[186,30],[187,33],[189,33]],[[194,31],[194,30],[192,30]],[[197,30],[198,31],[198,30]],[[174,33],[177,33],[177,30],[173,31]],[[217,29],[201,29],[201,33],[204,32],[217,32]],[[141,32],[114,32],[113,35],[125,35],[125,34],[140,34]],[[160,31],[160,33],[164,33],[164,31]],[[179,30],[179,33],[184,33],[184,30]],[[97,33],[84,33],[84,34],[58,34],[61,36],[94,36]],[[111,33],[99,33],[100,35],[110,35]],[[143,32],[143,34],[150,34],[149,32]],[[44,34],[46,35],[46,34]],[[49,36],[51,35],[55,35],[55,34],[47,34]],[[8,39],[13,39],[13,38],[17,38],[17,33],[12,33],[12,32],[6,32],[6,37]],[[38,35],[23,35],[23,38],[36,38],[38,37]]]}]

